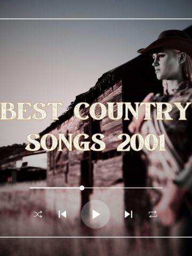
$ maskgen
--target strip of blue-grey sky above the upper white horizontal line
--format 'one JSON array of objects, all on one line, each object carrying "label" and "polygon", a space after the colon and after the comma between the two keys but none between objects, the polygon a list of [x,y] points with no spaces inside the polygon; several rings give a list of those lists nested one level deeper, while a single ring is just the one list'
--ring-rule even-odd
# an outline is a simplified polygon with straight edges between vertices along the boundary
[{"label": "strip of blue-grey sky above the upper white horizontal line", "polygon": [[190,0],[1,0],[1,18],[191,18]]}]

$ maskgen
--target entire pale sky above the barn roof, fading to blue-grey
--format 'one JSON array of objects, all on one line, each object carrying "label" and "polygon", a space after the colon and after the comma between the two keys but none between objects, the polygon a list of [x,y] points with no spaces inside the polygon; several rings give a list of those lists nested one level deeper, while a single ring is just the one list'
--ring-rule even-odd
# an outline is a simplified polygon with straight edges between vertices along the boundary
[{"label": "entire pale sky above the barn roof, fading to blue-grey", "polygon": [[[171,2],[165,3],[1,1],[1,102],[16,107],[17,102],[62,102],[61,115],[76,95],[89,90],[106,71],[137,57],[137,50],[153,42],[161,31],[192,25],[192,20],[16,18],[190,18],[189,1],[174,1],[174,8]],[[0,120],[0,146],[27,143],[28,134],[50,125],[50,113],[47,108],[42,121]]]}]

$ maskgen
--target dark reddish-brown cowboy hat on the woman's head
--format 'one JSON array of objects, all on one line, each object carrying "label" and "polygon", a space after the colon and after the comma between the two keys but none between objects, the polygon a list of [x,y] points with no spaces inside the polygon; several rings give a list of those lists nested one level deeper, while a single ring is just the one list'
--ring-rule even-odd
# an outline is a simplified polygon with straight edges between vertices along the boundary
[{"label": "dark reddish-brown cowboy hat on the woman's head", "polygon": [[151,43],[146,48],[138,50],[138,53],[153,54],[159,47],[167,47],[177,49],[187,53],[192,58],[192,39],[190,36],[181,30],[165,30],[156,41]]}]

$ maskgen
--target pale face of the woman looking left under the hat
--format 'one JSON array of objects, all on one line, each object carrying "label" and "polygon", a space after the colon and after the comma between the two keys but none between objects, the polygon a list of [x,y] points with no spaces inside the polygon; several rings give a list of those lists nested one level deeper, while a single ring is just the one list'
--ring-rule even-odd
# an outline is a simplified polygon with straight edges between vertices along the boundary
[{"label": "pale face of the woman looking left under the hat", "polygon": [[162,48],[153,54],[153,66],[158,80],[175,80],[180,74],[179,54]]}]

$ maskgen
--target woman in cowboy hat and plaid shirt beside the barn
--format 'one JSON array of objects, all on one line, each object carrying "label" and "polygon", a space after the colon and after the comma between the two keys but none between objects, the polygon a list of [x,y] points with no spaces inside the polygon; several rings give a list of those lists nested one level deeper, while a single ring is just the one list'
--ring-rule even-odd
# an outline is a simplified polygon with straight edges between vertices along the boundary
[{"label": "woman in cowboy hat and plaid shirt beside the barn", "polygon": [[[158,80],[163,81],[163,94],[150,93],[144,102],[186,102],[192,100],[192,40],[183,31],[166,30],[145,49],[138,51],[153,57]],[[147,182],[154,187],[149,192],[151,206],[157,211],[157,236],[192,236],[192,109],[186,110],[187,121],[178,121],[179,110],[173,109],[173,120],[143,121],[133,119],[128,129],[132,133],[165,134],[166,151],[145,152]],[[155,113],[155,111],[154,111]],[[156,187],[162,187],[155,189]],[[163,255],[192,255],[191,243],[176,241],[177,246],[164,243]],[[163,244],[162,244],[163,245]],[[170,247],[169,247],[170,246]],[[173,247],[177,248],[173,252]],[[185,250],[187,253],[185,254]],[[174,254],[173,254],[174,253]]]}]

